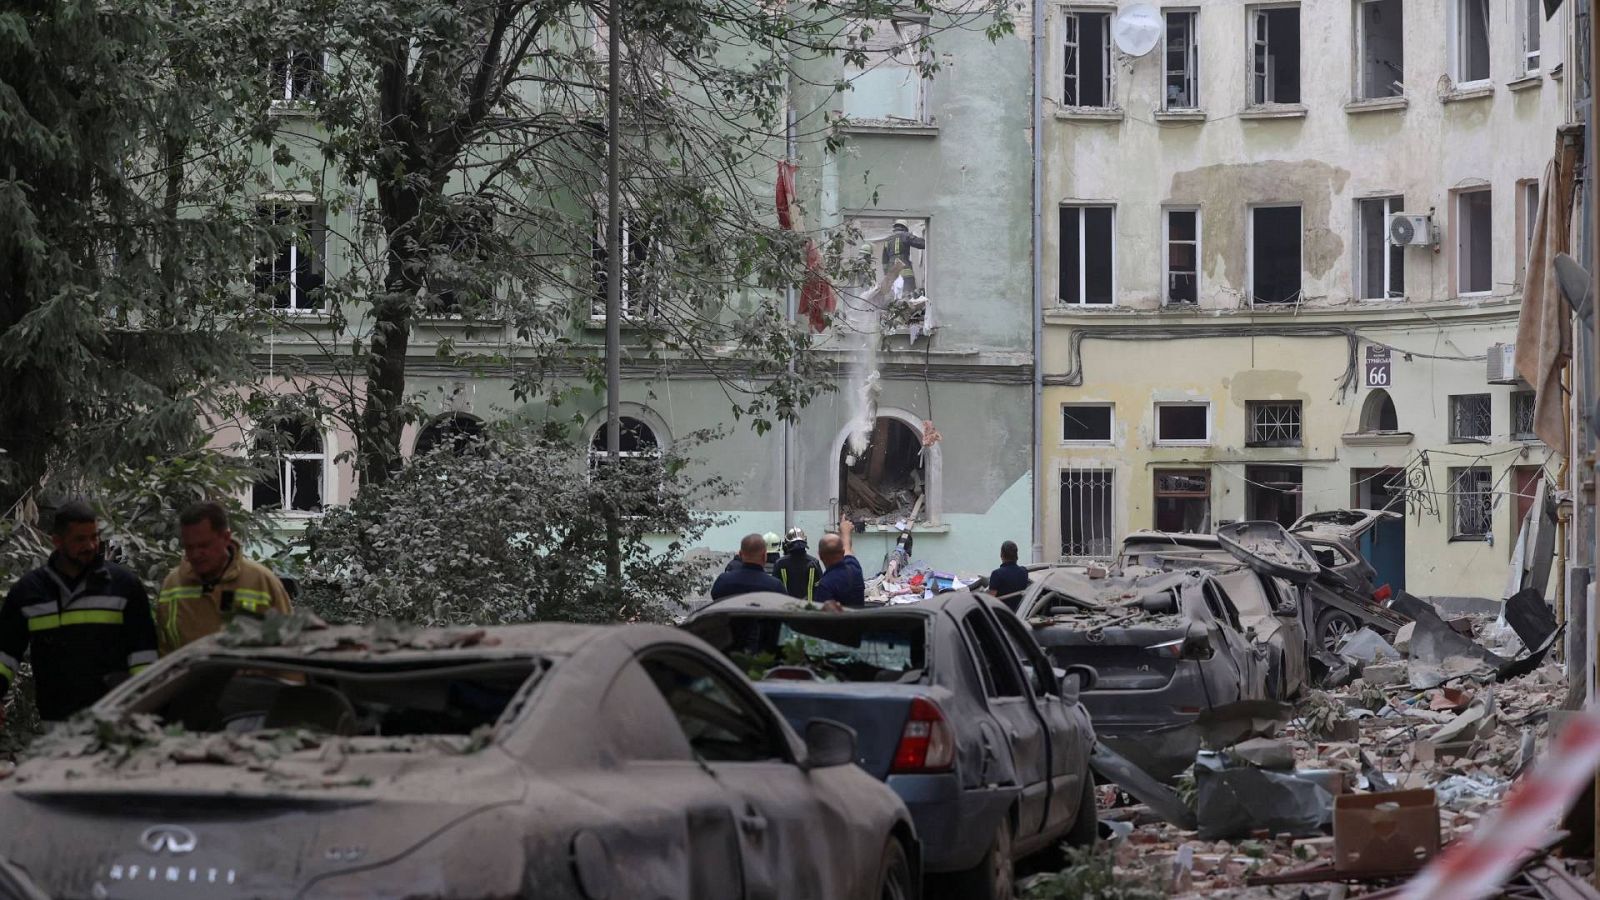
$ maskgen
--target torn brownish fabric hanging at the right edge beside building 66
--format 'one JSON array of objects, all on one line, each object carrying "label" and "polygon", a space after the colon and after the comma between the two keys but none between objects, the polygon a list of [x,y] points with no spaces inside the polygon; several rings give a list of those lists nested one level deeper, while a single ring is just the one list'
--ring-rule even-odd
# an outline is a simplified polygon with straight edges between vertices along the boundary
[{"label": "torn brownish fabric hanging at the right edge beside building 66", "polygon": [[1517,373],[1534,389],[1533,432],[1555,452],[1566,448],[1562,370],[1573,354],[1571,311],[1562,303],[1555,256],[1571,248],[1576,163],[1576,143],[1557,138],[1555,159],[1544,168],[1539,218],[1533,223],[1528,277],[1517,320]]}]

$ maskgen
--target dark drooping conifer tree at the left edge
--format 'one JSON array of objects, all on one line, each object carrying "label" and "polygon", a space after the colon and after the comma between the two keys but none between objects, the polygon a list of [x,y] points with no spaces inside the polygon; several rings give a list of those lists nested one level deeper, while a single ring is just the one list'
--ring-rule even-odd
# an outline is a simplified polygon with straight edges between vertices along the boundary
[{"label": "dark drooping conifer tree at the left edge", "polygon": [[0,10],[0,517],[190,447],[250,375],[258,229],[226,197],[258,91],[197,21],[187,0]]}]

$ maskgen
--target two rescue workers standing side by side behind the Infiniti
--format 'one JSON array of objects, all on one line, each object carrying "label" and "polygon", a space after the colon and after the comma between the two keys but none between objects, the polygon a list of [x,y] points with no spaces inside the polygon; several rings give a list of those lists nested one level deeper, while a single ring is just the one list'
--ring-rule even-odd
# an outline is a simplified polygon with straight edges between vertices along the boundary
[{"label": "two rescue workers standing side by side behind the Infiniti", "polygon": [[50,532],[50,559],[19,578],[0,605],[0,698],[27,653],[38,716],[46,722],[88,708],[235,615],[290,612],[283,583],[245,559],[218,503],[197,503],[178,516],[184,559],[166,573],[154,609],[139,578],[106,559],[90,504],[62,504]]}]

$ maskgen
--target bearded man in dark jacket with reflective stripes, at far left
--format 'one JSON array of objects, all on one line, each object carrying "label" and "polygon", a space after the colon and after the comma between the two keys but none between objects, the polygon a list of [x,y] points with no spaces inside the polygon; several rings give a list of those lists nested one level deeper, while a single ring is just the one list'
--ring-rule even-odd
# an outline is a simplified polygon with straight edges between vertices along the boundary
[{"label": "bearded man in dark jacket with reflective stripes, at far left", "polygon": [[94,511],[67,503],[50,532],[54,552],[0,605],[0,697],[27,653],[38,717],[58,722],[154,663],[157,647],[150,596],[133,572],[101,556]]}]

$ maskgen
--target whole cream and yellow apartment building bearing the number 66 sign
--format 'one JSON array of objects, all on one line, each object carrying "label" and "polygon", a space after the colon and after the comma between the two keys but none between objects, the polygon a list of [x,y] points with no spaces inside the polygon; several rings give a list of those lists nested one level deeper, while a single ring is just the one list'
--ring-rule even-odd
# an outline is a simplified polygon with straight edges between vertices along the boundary
[{"label": "whole cream and yellow apartment building bearing the number 66 sign", "polygon": [[1510,348],[1570,11],[1048,10],[1046,557],[1379,508],[1382,581],[1499,596],[1550,460]]}]

